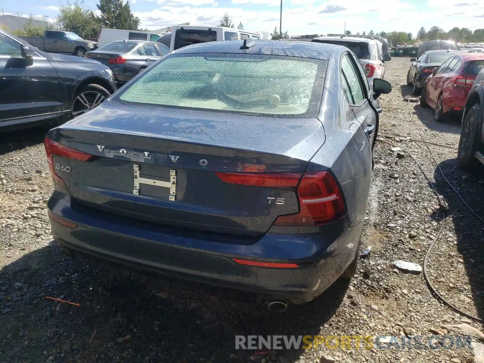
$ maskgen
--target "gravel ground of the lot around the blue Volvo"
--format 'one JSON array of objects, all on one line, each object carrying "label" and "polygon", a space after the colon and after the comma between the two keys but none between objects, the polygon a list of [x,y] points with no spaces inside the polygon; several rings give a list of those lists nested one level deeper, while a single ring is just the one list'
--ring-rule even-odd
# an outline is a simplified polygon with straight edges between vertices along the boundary
[{"label": "gravel ground of the lot around the blue Volvo", "polygon": [[[460,123],[438,124],[433,112],[403,101],[408,58],[393,58],[382,96],[379,138],[410,152],[449,207],[428,274],[438,291],[471,315],[484,317],[484,233],[443,180],[438,165],[481,216],[484,180],[456,163]],[[468,348],[317,349],[241,351],[242,335],[454,334],[444,324],[482,330],[439,302],[422,273],[396,270],[394,260],[423,264],[442,223],[437,199],[405,153],[381,141],[375,148],[363,246],[351,283],[337,282],[321,297],[284,314],[258,297],[201,284],[112,274],[71,259],[51,242],[46,201],[52,181],[42,144],[46,128],[0,135],[0,362],[471,362]],[[396,137],[390,137],[396,136]],[[73,306],[46,296],[79,303]],[[478,331],[474,335],[478,335]],[[482,333],[481,333],[482,334]],[[464,334],[466,335],[466,334]],[[462,335],[462,336],[464,336]],[[364,346],[364,344],[363,344]],[[476,356],[476,362],[478,358]]]}]

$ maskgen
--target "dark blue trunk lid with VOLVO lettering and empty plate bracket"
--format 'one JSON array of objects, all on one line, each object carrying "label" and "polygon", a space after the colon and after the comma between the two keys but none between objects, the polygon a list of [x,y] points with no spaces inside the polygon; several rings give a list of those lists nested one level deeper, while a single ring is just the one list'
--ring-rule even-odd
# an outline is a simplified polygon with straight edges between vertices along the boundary
[{"label": "dark blue trunk lid with VOLVO lettering and empty plate bracket", "polygon": [[[53,156],[75,202],[159,225],[237,235],[263,234],[277,216],[299,211],[295,186],[325,140],[317,119],[111,102],[48,137],[93,155],[89,161]],[[238,185],[217,175],[247,172],[294,182]]]}]

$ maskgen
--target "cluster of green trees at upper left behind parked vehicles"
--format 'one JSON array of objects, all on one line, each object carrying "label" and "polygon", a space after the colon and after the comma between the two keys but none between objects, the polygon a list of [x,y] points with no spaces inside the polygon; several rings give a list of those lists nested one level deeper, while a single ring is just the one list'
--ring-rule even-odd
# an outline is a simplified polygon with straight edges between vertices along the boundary
[{"label": "cluster of green trees at upper left behind parked vehicles", "polygon": [[43,36],[45,30],[64,30],[86,39],[97,38],[102,28],[142,30],[139,29],[140,20],[131,12],[128,1],[99,0],[96,7],[100,16],[86,8],[83,1],[67,2],[59,7],[59,15],[53,23],[35,26],[30,18],[21,30],[14,33],[19,36]]}]

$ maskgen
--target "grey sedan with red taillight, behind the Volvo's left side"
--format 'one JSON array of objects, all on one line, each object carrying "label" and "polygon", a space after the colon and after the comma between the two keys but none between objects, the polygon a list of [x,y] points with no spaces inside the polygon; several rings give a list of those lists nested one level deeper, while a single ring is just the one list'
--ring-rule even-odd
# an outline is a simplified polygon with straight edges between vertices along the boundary
[{"label": "grey sedan with red taillight, behind the Volvo's left side", "polygon": [[116,82],[123,84],[169,52],[170,49],[163,44],[125,39],[87,52],[85,57],[107,65]]}]

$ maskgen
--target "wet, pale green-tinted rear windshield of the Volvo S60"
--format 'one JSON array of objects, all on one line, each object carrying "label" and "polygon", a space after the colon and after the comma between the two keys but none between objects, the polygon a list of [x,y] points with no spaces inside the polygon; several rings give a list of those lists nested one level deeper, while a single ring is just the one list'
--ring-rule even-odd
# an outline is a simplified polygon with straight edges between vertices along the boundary
[{"label": "wet, pale green-tinted rear windshield of the Volvo S60", "polygon": [[306,118],[316,116],[325,61],[266,55],[174,55],[121,91],[138,104]]}]

